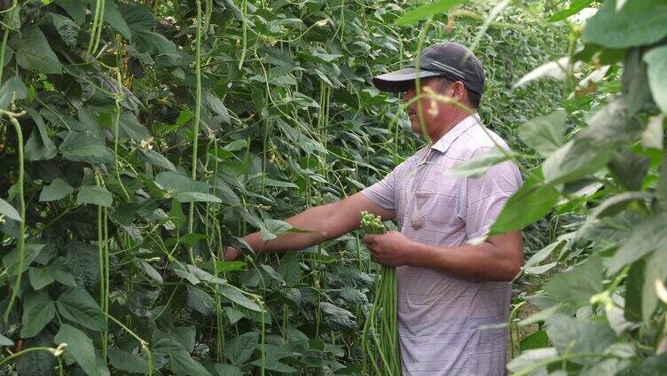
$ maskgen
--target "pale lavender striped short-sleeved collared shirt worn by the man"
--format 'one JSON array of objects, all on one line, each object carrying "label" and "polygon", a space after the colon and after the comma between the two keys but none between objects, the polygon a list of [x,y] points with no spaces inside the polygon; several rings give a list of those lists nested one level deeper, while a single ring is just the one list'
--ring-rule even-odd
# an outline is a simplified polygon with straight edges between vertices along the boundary
[{"label": "pale lavender striped short-sleeved collared shirt worn by the man", "polygon": [[[506,200],[522,184],[512,161],[481,177],[449,176],[447,169],[505,141],[477,114],[460,121],[362,193],[396,214],[409,239],[458,247],[488,233]],[[466,280],[412,266],[396,269],[398,325],[404,376],[504,375],[510,286]]]}]

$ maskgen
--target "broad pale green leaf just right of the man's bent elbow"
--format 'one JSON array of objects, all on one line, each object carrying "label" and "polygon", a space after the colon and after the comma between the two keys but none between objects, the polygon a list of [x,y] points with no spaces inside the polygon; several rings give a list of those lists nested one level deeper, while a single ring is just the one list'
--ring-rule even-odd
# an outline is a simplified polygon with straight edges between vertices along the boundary
[{"label": "broad pale green leaf just right of the man's bent elbow", "polygon": [[578,308],[589,304],[591,296],[603,290],[602,275],[602,258],[592,255],[580,265],[553,276],[544,289],[553,301],[567,302]]}]

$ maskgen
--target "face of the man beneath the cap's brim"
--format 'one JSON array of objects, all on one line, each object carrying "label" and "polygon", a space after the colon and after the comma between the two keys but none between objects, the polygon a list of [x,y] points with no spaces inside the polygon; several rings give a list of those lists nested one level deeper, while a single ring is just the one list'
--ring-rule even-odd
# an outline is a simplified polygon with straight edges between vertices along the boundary
[{"label": "face of the man beneath the cap's brim", "polygon": [[[461,98],[458,92],[459,90],[456,90],[454,82],[450,82],[444,88],[441,88],[439,78],[429,77],[421,79],[420,83],[422,98],[420,100],[412,101],[412,99],[417,96],[417,90],[412,87],[404,93],[403,100],[405,103],[412,102],[407,106],[412,131],[418,134],[423,134],[425,130],[427,135],[432,136],[439,133],[443,124],[446,124],[448,120],[451,119],[451,116],[457,111],[457,107],[449,103],[428,98],[426,93],[424,93],[425,88],[430,88],[442,96],[450,97],[455,100],[460,100]],[[418,106],[421,106],[423,124],[420,122]]]}]

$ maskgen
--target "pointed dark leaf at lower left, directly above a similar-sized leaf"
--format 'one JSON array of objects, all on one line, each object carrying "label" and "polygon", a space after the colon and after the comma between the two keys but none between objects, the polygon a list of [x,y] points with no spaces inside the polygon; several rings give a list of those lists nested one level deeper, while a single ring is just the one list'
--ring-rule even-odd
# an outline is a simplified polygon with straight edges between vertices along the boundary
[{"label": "pointed dark leaf at lower left, directly above a similar-sized leaf", "polygon": [[104,313],[92,296],[82,287],[70,289],[60,294],[56,306],[62,317],[91,330],[106,330]]}]

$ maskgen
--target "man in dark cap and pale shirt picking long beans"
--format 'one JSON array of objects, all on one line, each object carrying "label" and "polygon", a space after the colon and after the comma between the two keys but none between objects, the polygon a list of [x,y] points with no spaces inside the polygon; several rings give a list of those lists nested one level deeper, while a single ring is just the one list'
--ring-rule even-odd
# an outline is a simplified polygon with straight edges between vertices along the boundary
[{"label": "man in dark cap and pale shirt picking long beans", "polygon": [[[507,320],[507,281],[523,263],[521,232],[475,245],[467,240],[489,231],[522,184],[521,174],[511,161],[479,178],[447,174],[461,161],[507,146],[483,128],[476,113],[468,112],[479,105],[484,84],[482,64],[471,51],[458,43],[436,43],[421,52],[419,65],[377,76],[373,84],[380,90],[406,91],[412,130],[423,129],[430,145],[364,191],[287,219],[310,232],[283,234],[267,243],[256,232],[244,239],[255,252],[295,250],[356,229],[364,210],[383,220],[396,219],[400,232],[366,235],[364,240],[375,262],[396,267],[403,374],[503,375],[507,333],[488,326]],[[423,91],[450,101],[414,100],[415,79]],[[238,255],[227,249],[228,259]]]}]

